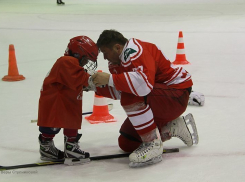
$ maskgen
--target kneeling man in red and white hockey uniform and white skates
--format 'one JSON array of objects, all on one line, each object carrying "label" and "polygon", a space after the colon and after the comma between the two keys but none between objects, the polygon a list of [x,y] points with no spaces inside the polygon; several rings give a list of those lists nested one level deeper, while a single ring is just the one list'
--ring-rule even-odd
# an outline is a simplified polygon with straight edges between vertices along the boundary
[{"label": "kneeling man in red and white hockey uniform and white skates", "polygon": [[104,30],[97,46],[108,60],[111,74],[96,73],[92,80],[96,86],[106,85],[96,87],[97,94],[120,99],[128,116],[118,142],[122,150],[132,152],[130,167],[162,161],[162,142],[171,137],[180,138],[187,146],[198,143],[192,114],[180,117],[192,90],[190,73],[174,67],[156,45],[126,39],[115,30]]}]

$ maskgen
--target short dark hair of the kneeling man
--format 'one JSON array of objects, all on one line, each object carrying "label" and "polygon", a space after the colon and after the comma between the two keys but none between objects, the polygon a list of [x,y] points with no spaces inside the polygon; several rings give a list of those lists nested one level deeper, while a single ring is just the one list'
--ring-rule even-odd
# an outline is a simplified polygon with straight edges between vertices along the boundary
[{"label": "short dark hair of the kneeling man", "polygon": [[128,39],[116,30],[104,30],[97,40],[97,46],[98,48],[102,46],[112,48],[115,44],[125,45],[127,41]]}]

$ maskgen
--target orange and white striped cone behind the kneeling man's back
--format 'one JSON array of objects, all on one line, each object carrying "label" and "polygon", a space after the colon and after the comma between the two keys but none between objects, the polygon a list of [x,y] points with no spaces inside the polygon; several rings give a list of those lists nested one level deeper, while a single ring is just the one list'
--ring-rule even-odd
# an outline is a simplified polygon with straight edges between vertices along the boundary
[{"label": "orange and white striped cone behind the kneeling man's back", "polygon": [[190,64],[185,57],[185,46],[182,31],[179,32],[176,58],[173,64]]}]

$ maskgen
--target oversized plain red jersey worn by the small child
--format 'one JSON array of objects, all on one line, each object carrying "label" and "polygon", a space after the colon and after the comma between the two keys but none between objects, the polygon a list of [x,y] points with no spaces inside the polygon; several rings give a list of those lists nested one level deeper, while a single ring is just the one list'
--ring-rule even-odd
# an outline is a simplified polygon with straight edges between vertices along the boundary
[{"label": "oversized plain red jersey worn by the small child", "polygon": [[89,74],[76,58],[60,57],[44,79],[39,99],[38,126],[80,129],[83,86]]}]

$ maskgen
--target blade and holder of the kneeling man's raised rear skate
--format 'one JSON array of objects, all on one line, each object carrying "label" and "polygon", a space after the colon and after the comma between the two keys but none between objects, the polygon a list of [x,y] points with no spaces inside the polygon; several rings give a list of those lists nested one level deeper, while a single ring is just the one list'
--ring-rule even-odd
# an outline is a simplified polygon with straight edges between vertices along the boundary
[{"label": "blade and holder of the kneeling man's raised rear skate", "polygon": [[186,126],[188,127],[188,129],[191,133],[193,144],[197,145],[199,142],[199,136],[198,136],[197,127],[196,127],[194,117],[191,113],[189,113],[185,116],[185,122],[186,122]]}]

